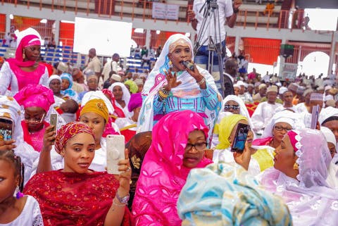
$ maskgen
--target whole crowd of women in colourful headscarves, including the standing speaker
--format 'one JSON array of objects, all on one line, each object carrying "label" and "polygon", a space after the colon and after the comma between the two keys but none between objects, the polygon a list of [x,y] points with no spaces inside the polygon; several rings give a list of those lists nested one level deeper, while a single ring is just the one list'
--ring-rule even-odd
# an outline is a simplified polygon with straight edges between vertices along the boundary
[{"label": "whole crowd of women in colourful headscarves, including the standing speaker", "polygon": [[[13,122],[0,141],[0,225],[338,222],[338,109],[322,109],[323,94],[309,92],[304,113],[284,95],[259,134],[241,94],[223,99],[207,70],[185,66],[194,53],[182,34],[167,40],[145,82],[111,71],[101,89],[90,65],[49,75],[30,31],[0,70],[0,118]],[[276,96],[271,85],[270,105]],[[233,152],[239,125],[248,133]],[[106,172],[108,134],[126,141],[117,175]]]}]

